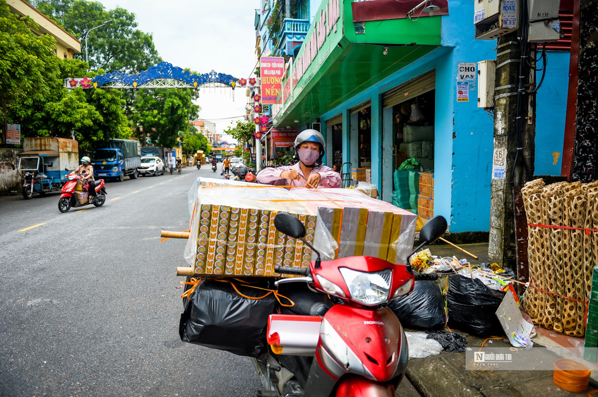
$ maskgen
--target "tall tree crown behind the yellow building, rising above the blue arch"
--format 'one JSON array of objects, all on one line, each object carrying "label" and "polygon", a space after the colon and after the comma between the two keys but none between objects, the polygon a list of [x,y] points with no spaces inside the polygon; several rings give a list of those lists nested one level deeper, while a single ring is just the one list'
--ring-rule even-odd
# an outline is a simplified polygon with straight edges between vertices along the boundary
[{"label": "tall tree crown behind the yellow building, rising above the blue arch", "polygon": [[87,0],[37,0],[33,4],[81,40],[82,53],[75,57],[83,60],[87,30],[112,20],[92,30],[87,38],[89,66],[93,70],[136,73],[161,60],[152,35],[136,29],[135,14],[124,8],[106,10],[100,2]]}]

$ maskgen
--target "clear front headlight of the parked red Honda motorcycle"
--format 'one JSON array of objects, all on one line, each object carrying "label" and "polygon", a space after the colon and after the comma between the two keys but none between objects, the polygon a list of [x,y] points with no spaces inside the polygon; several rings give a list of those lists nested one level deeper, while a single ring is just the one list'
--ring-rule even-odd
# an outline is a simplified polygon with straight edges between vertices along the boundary
[{"label": "clear front headlight of the parked red Honda motorcycle", "polygon": [[366,306],[375,306],[388,300],[392,270],[366,273],[341,267],[340,273],[349,288],[352,300]]}]

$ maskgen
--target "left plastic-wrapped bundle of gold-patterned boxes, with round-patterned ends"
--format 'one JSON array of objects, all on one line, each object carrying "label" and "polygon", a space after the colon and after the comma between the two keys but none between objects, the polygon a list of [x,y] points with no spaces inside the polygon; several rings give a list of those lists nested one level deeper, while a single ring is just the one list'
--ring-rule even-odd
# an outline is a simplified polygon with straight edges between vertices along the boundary
[{"label": "left plastic-wrapped bundle of gold-patterned boxes, with round-patterned ends", "polygon": [[[306,267],[315,254],[303,241],[274,227],[286,212],[306,227],[306,241],[323,260],[334,258],[337,243],[316,214],[282,187],[199,179],[185,260],[198,275],[274,276],[274,266]],[[193,193],[190,193],[190,198]]]}]

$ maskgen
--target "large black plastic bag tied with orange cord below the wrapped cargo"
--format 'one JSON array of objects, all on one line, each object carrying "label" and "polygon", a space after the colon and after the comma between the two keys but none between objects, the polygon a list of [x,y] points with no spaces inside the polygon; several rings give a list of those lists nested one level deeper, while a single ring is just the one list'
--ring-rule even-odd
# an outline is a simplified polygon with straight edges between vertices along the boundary
[{"label": "large black plastic bag tied with orange cord below the wrapped cargo", "polygon": [[[246,296],[261,297],[266,293],[235,285]],[[266,346],[268,316],[274,313],[274,304],[274,294],[249,299],[240,296],[229,282],[204,280],[191,298],[184,300],[179,336],[188,343],[257,357]]]}]

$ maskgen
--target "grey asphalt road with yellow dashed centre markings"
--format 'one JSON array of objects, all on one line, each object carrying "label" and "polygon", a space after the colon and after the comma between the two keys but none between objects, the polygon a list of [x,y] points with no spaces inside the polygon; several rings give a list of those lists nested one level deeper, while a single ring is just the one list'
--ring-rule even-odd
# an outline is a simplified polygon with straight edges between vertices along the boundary
[{"label": "grey asphalt road with yellow dashed centre markings", "polygon": [[112,182],[66,214],[57,193],[0,197],[0,396],[255,395],[249,359],[178,336],[185,241],[158,236],[188,229],[197,176],[220,177]]}]

